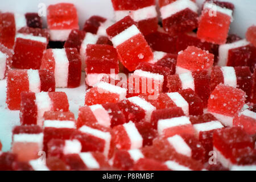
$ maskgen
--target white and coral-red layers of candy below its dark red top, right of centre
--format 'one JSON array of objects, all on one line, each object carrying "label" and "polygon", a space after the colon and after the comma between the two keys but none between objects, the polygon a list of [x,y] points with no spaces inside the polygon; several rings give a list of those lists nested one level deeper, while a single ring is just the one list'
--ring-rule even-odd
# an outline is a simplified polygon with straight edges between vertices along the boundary
[{"label": "white and coral-red layers of candy below its dark red top, right of centre", "polygon": [[170,119],[159,119],[158,134],[162,137],[172,137],[181,134],[194,134],[193,125],[188,117],[181,116]]}]

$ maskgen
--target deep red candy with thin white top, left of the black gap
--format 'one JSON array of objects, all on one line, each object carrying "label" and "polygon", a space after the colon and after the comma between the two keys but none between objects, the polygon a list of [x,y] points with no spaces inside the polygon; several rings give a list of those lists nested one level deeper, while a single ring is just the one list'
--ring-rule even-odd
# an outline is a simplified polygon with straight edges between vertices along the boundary
[{"label": "deep red candy with thin white top, left of the black gap", "polygon": [[47,43],[48,40],[44,36],[18,33],[15,40],[12,67],[39,69]]}]

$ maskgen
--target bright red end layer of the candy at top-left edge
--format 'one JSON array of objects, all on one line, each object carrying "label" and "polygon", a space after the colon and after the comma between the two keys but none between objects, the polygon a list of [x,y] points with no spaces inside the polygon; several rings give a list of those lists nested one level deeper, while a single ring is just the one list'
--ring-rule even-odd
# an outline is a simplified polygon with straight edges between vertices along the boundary
[{"label": "bright red end layer of the candy at top-left edge", "polygon": [[14,14],[1,13],[0,25],[0,43],[9,49],[13,49],[16,35]]}]

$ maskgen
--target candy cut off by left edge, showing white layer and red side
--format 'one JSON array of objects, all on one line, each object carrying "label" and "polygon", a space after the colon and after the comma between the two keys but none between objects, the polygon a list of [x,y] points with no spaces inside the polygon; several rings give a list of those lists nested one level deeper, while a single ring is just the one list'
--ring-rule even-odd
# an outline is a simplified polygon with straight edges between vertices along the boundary
[{"label": "candy cut off by left edge, showing white layer and red side", "polygon": [[0,43],[0,80],[6,77],[13,61],[13,52]]}]

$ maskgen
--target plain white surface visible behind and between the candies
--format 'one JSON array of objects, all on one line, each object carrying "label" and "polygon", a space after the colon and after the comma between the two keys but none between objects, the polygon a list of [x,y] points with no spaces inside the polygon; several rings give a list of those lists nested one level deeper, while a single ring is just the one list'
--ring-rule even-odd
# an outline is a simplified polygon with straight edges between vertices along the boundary
[{"label": "plain white surface visible behind and between the candies", "polygon": [[[147,1],[147,0],[145,0]],[[234,11],[234,22],[230,32],[244,37],[247,27],[256,24],[256,0],[225,0],[233,2],[236,10]],[[79,14],[80,27],[86,19],[92,15],[101,15],[106,18],[113,18],[113,8],[111,0],[0,0],[0,11],[13,11],[16,13],[38,12],[39,3],[46,5],[58,2],[71,2],[77,7]],[[204,0],[197,0],[201,5]],[[44,24],[46,19],[44,18]],[[75,113],[79,106],[84,105],[85,85],[84,75],[82,76],[81,86],[75,89],[56,89],[64,91],[68,95],[69,109]],[[6,109],[6,80],[0,80],[0,140],[3,144],[3,151],[10,150],[11,130],[13,126],[19,125],[19,111]]]}]

